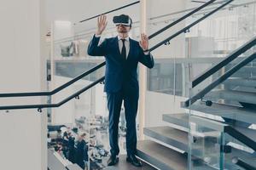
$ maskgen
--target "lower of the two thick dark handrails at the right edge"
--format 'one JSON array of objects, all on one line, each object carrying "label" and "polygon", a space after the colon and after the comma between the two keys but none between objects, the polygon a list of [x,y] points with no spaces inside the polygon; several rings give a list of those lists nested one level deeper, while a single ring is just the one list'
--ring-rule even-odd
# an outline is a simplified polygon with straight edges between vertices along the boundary
[{"label": "lower of the two thick dark handrails at the right edge", "polygon": [[[254,43],[255,45],[255,43]],[[247,48],[248,49],[248,48]],[[237,63],[235,66],[233,66],[229,71],[225,72],[223,76],[218,77],[217,80],[209,84],[206,88],[201,90],[199,93],[195,94],[190,99],[186,100],[182,103],[184,107],[189,107],[189,105],[192,105],[197,101],[198,99],[201,99],[204,97],[208,92],[210,92],[213,88],[216,88],[221,82],[224,82],[226,79],[228,79],[232,74],[234,74],[236,71],[241,69],[244,65],[247,65],[249,62],[253,61],[253,59],[256,59],[256,53],[250,55],[246,59],[242,59],[241,62]]]}]

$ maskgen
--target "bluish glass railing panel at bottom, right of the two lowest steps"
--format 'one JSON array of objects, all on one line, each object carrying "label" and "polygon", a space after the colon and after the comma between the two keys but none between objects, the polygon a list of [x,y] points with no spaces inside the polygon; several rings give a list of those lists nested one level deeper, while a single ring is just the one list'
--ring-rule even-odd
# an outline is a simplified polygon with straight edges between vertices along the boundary
[{"label": "bluish glass railing panel at bottom, right of the two lowest steps", "polygon": [[189,169],[224,169],[224,132],[197,116],[189,116]]}]

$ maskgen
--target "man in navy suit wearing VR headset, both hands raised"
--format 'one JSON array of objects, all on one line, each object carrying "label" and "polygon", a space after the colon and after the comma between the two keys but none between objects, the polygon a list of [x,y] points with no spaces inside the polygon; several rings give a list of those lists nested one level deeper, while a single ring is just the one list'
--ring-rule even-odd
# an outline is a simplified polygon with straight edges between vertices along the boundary
[{"label": "man in navy suit wearing VR headset, both hands raised", "polygon": [[106,59],[104,91],[107,93],[108,99],[109,142],[111,146],[108,166],[115,165],[119,161],[119,116],[124,100],[127,127],[126,161],[131,162],[136,167],[141,167],[141,161],[138,161],[135,156],[137,150],[136,116],[139,97],[137,64],[141,62],[148,68],[153,68],[154,59],[149,52],[144,52],[148,50],[148,37],[145,34],[141,35],[140,42],[129,37],[132,20],[125,14],[113,17],[118,36],[106,38],[99,44],[102,31],[107,26],[106,20],[106,15],[98,18],[97,31],[90,41],[88,54],[105,56]]}]

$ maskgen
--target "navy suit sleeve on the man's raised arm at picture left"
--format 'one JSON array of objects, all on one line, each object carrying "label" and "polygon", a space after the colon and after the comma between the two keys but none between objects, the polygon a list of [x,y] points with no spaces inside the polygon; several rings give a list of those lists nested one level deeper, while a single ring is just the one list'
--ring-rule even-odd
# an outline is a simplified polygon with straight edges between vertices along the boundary
[{"label": "navy suit sleeve on the man's raised arm at picture left", "polygon": [[105,39],[98,45],[101,37],[93,36],[87,49],[87,53],[91,56],[104,56],[107,54],[107,40]]}]

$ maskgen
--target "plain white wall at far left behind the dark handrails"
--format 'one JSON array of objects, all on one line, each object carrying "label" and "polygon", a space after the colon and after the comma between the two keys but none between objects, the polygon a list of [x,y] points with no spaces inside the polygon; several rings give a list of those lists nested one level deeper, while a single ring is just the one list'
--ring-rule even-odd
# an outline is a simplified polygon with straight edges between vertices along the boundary
[{"label": "plain white wall at far left behind the dark handrails", "polygon": [[[41,91],[44,88],[44,2],[3,0],[0,6],[0,93]],[[1,100],[35,104],[40,98]],[[0,169],[46,169],[46,114],[37,110],[0,111]]]}]

